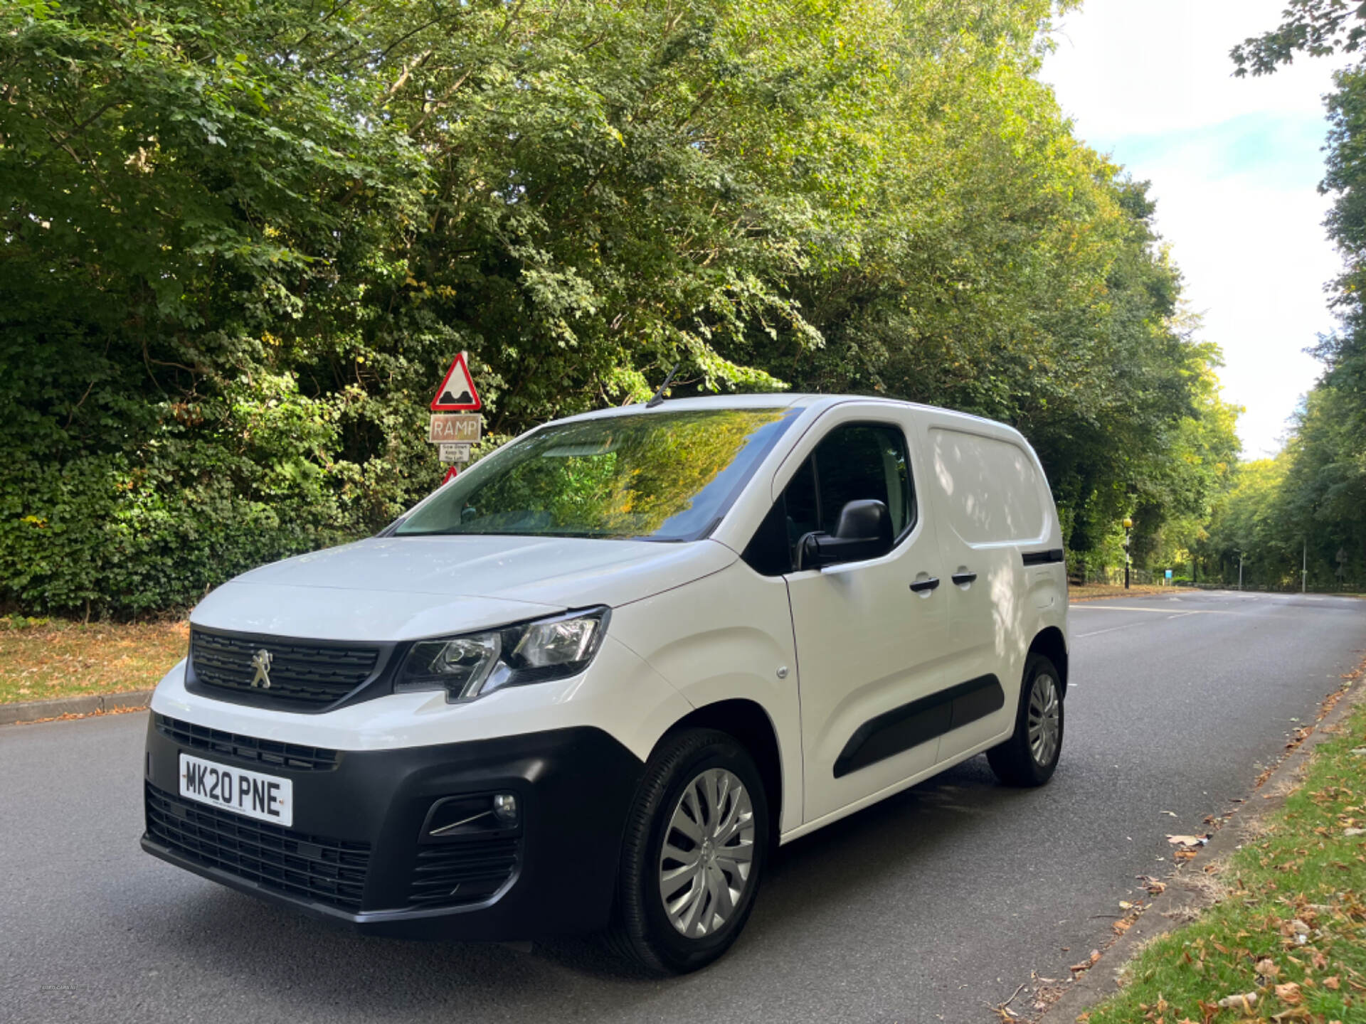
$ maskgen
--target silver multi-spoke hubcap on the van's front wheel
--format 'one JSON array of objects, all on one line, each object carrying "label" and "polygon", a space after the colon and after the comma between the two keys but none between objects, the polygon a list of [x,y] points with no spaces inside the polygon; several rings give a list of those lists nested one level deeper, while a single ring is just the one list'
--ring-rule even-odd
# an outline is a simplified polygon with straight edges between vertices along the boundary
[{"label": "silver multi-spoke hubcap on the van's front wheel", "polygon": [[725,769],[708,769],[679,797],[660,852],[660,897],[673,927],[710,935],[735,913],[754,864],[754,807]]}]

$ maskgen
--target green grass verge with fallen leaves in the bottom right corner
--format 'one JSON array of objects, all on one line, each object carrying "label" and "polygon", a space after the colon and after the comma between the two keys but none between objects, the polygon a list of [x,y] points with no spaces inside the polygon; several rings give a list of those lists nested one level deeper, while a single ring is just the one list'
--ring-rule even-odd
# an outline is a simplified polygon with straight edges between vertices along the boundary
[{"label": "green grass verge with fallen leaves in the bottom right corner", "polygon": [[1366,1021],[1366,703],[1259,831],[1218,871],[1227,898],[1146,945],[1079,1021]]}]

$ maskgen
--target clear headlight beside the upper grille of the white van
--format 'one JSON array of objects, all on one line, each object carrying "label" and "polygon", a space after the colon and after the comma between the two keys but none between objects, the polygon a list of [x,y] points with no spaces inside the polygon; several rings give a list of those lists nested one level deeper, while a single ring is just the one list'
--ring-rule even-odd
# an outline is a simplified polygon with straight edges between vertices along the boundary
[{"label": "clear headlight beside the upper grille of the white van", "polygon": [[609,612],[594,608],[481,634],[419,640],[403,659],[393,689],[444,689],[447,700],[473,700],[503,687],[576,676],[602,644]]}]

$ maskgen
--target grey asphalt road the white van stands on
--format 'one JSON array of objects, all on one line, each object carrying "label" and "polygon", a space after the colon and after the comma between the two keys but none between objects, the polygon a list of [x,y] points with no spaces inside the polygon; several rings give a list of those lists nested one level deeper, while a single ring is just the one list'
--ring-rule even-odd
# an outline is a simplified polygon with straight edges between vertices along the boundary
[{"label": "grey asphalt road the white van stands on", "polygon": [[[1246,796],[1366,649],[1366,601],[1074,605],[1053,782],[984,758],[784,847],[731,954],[622,976],[591,942],[361,939],[138,849],[146,718],[0,728],[4,1021],[994,1020],[1108,934],[1165,836]],[[1064,949],[1065,948],[1065,949]]]}]

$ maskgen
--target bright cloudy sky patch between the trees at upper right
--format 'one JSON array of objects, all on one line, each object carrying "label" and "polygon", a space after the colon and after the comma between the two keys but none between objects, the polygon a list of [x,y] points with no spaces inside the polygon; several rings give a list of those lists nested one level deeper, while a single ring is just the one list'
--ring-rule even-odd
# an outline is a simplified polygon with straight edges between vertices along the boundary
[{"label": "bright cloudy sky patch between the trees at upper right", "polygon": [[1224,399],[1244,406],[1243,457],[1274,453],[1318,377],[1305,354],[1335,326],[1341,266],[1318,194],[1322,96],[1340,59],[1233,78],[1228,51],[1276,26],[1285,0],[1086,0],[1057,20],[1041,78],[1076,135],[1152,182],[1201,337],[1224,350]]}]

